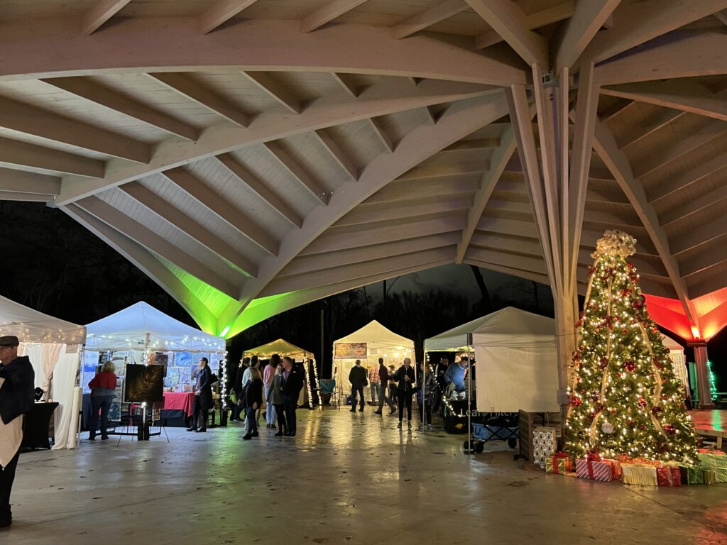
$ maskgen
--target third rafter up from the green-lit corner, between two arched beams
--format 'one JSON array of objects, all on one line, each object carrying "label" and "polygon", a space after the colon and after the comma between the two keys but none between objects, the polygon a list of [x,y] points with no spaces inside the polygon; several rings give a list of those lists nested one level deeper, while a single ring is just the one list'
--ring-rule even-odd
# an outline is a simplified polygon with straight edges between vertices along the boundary
[{"label": "third rafter up from the green-lit corner, between two arched beams", "polygon": [[278,254],[278,241],[190,171],[177,167],[165,170],[162,174],[206,206],[217,217],[235,227],[241,235],[244,235],[260,249],[272,256]]}]

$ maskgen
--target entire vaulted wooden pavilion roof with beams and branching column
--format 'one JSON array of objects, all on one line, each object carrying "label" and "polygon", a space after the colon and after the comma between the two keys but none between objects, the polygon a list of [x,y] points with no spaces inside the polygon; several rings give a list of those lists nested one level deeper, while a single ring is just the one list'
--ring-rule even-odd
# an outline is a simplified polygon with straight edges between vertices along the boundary
[{"label": "entire vaulted wooden pavilion roof with beams and branching column", "polygon": [[723,9],[0,0],[0,199],[223,336],[453,262],[572,295],[610,228],[690,315],[727,285]]}]

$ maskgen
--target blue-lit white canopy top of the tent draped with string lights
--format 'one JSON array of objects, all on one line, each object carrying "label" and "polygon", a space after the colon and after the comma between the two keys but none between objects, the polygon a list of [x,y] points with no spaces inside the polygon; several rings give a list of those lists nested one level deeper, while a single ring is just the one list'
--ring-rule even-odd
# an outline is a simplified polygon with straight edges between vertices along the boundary
[{"label": "blue-lit white canopy top of the tent draped with string lights", "polygon": [[138,302],[87,326],[86,350],[225,352],[225,339],[174,320]]}]

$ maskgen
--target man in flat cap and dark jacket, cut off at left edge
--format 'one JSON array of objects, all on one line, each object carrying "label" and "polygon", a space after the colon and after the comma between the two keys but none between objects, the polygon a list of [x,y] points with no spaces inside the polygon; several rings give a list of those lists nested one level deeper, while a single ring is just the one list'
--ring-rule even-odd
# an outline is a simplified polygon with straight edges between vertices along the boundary
[{"label": "man in flat cap and dark jacket, cut off at left edge", "polygon": [[33,407],[36,374],[18,356],[16,336],[0,336],[0,528],[12,522],[10,491],[23,442],[23,414]]}]

